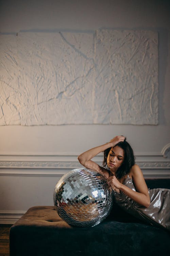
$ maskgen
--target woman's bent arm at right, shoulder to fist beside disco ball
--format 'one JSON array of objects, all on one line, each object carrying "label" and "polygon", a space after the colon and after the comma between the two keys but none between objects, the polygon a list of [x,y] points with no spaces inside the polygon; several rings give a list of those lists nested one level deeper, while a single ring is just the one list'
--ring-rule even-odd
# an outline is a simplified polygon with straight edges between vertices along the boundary
[{"label": "woman's bent arm at right, shoulder to fist beside disco ball", "polygon": [[134,181],[136,191],[121,184],[115,176],[111,176],[108,178],[108,184],[115,187],[116,189],[121,190],[124,194],[126,194],[138,204],[144,207],[149,207],[150,197],[148,193],[148,187],[146,185],[142,171],[137,164],[132,166],[130,174]]}]

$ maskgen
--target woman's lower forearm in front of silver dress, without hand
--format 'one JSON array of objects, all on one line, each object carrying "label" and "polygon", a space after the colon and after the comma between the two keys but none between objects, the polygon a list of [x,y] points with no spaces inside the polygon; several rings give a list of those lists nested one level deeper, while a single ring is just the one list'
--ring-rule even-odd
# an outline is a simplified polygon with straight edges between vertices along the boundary
[{"label": "woman's lower forearm in front of silver dress, without hand", "polygon": [[137,202],[138,204],[145,206],[145,207],[149,207],[150,205],[150,198],[149,198],[149,194],[143,194],[143,193],[139,193],[137,191],[132,190],[131,188],[128,188],[125,185],[121,185],[121,187],[119,188],[124,194],[126,194],[128,197],[130,197],[133,201]]}]

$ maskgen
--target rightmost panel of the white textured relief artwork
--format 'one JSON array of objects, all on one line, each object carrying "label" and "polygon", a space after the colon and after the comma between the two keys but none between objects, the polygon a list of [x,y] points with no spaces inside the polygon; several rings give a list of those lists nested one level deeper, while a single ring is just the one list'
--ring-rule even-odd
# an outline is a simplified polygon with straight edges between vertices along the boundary
[{"label": "rightmost panel of the white textured relief artwork", "polygon": [[94,123],[158,123],[157,37],[152,31],[96,31]]}]

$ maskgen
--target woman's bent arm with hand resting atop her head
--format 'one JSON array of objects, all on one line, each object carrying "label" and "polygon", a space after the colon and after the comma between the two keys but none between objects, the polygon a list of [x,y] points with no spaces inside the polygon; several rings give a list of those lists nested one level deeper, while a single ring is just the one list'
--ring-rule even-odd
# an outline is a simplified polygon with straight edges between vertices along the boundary
[{"label": "woman's bent arm with hand resting atop her head", "polygon": [[101,146],[91,148],[91,149],[83,152],[82,154],[80,154],[80,156],[78,156],[78,160],[86,168],[89,168],[89,169],[99,172],[107,179],[109,177],[108,170],[99,166],[97,163],[95,163],[91,159],[93,157],[97,156],[97,154],[99,154],[100,152],[103,152],[105,149],[114,147],[117,143],[119,143],[121,141],[124,141],[124,137],[116,136],[113,139],[111,139],[111,141],[109,143],[105,143]]}]

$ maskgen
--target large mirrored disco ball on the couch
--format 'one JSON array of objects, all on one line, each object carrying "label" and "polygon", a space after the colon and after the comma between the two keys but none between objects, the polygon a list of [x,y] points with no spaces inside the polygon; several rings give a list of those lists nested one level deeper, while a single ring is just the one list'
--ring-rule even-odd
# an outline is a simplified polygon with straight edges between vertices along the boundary
[{"label": "large mirrored disco ball on the couch", "polygon": [[112,209],[113,197],[106,179],[90,169],[65,174],[54,189],[58,215],[71,226],[93,227]]}]

